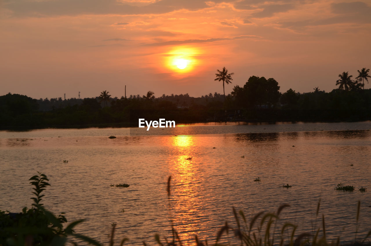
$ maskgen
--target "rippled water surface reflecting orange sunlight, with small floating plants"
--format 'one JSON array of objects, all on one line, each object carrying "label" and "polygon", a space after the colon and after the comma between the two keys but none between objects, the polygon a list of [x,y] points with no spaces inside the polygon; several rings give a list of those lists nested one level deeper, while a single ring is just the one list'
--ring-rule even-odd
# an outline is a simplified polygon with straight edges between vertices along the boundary
[{"label": "rippled water surface reflecting orange sunlight, with small floating plants", "polygon": [[[0,210],[30,207],[28,179],[40,171],[52,185],[47,208],[69,222],[86,219],[76,231],[101,242],[117,223],[117,241],[154,245],[155,233],[171,236],[171,221],[185,242],[195,234],[214,242],[224,221],[235,226],[232,207],[250,219],[285,203],[283,221],[312,232],[321,224],[319,199],[328,235],[352,240],[358,200],[359,235],[371,229],[370,129],[371,122],[196,124],[152,129],[158,136],[127,128],[0,131]],[[335,191],[339,182],[356,189]],[[110,187],[119,183],[130,187]]]}]

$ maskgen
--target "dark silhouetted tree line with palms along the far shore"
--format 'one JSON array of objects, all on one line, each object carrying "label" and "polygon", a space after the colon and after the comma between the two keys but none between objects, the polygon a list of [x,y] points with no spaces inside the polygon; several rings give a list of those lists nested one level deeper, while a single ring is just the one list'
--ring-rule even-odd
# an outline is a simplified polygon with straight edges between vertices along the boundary
[{"label": "dark silhouetted tree line with palms along the far shore", "polygon": [[[290,88],[280,93],[273,78],[251,76],[243,86],[236,85],[230,94],[209,93],[201,97],[187,94],[163,94],[112,98],[102,91],[93,98],[40,98],[39,100],[8,93],[0,96],[0,127],[88,127],[128,126],[130,116],[161,115],[177,123],[207,121],[357,121],[371,120],[371,89],[364,89],[370,69],[361,69],[352,80],[348,72],[339,74],[338,88],[329,93],[319,87],[299,93]],[[224,67],[214,80],[227,85],[233,73]]]}]

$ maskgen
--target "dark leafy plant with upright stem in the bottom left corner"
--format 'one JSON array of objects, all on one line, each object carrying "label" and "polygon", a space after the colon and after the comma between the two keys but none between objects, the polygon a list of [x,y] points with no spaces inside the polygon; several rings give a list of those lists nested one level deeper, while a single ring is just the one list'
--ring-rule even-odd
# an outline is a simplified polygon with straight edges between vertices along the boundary
[{"label": "dark leafy plant with upright stem in the bottom left corner", "polygon": [[2,246],[31,246],[31,245],[65,245],[67,237],[72,236],[87,243],[101,246],[95,240],[75,233],[73,228],[84,220],[77,220],[63,228],[67,222],[64,213],[57,216],[47,211],[41,201],[41,193],[50,184],[45,174],[35,175],[29,179],[34,186],[32,208],[22,209],[20,213],[10,213],[0,210],[0,245]]}]

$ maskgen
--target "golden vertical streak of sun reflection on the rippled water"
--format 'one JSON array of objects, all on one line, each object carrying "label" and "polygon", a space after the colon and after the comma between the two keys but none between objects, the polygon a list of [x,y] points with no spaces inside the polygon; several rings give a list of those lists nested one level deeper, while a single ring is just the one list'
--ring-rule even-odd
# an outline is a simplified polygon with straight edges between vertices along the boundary
[{"label": "golden vertical streak of sun reflection on the rippled water", "polygon": [[198,137],[190,135],[173,136],[169,140],[175,150],[175,156],[169,163],[174,181],[169,211],[175,229],[182,235],[184,245],[192,244],[189,240],[195,234],[200,235],[205,227],[204,200],[201,198],[204,195],[201,187],[202,158],[197,156],[196,150],[198,140]]}]

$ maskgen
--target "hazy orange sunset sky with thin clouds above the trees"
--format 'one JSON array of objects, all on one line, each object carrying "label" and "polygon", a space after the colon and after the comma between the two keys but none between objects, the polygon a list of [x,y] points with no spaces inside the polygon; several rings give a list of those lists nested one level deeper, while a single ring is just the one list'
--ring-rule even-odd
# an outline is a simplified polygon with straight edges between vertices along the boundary
[{"label": "hazy orange sunset sky with thin clouds above the trees", "polygon": [[0,34],[0,95],[223,94],[224,66],[226,94],[252,75],[329,92],[371,68],[370,0],[2,0]]}]

